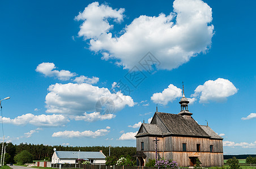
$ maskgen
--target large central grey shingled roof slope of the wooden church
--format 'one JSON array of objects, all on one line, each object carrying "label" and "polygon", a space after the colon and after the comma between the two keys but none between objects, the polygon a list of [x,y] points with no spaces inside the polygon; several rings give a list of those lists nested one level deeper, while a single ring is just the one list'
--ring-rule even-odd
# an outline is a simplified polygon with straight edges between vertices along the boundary
[{"label": "large central grey shingled roof slope of the wooden church", "polygon": [[161,112],[156,112],[156,115],[172,135],[210,137],[192,117],[187,119],[180,114]]}]

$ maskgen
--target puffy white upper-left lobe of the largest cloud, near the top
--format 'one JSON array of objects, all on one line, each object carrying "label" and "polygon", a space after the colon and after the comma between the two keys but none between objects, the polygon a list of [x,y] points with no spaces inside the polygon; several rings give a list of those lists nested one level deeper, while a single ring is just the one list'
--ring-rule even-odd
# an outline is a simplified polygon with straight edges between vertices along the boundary
[{"label": "puffy white upper-left lobe of the largest cloud, near the top", "polygon": [[123,20],[124,11],[123,8],[113,10],[108,5],[99,5],[99,2],[89,4],[84,8],[83,12],[79,12],[79,15],[75,17],[75,20],[84,21],[80,25],[79,37],[83,36],[84,39],[90,39],[105,34],[105,32],[113,28],[113,25],[108,23],[108,19],[114,19],[119,23]]}]

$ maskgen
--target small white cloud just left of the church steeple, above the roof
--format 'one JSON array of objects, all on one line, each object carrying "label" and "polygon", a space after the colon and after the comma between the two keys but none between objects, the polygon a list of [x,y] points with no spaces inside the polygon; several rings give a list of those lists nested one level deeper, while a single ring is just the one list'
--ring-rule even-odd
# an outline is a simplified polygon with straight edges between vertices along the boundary
[{"label": "small white cloud just left of the church steeple, above the roof", "polygon": [[155,93],[153,96],[151,96],[151,100],[154,103],[167,105],[168,102],[172,102],[177,97],[182,96],[182,90],[180,88],[177,88],[173,84],[170,84],[168,88],[165,88],[163,92],[161,93]]}]

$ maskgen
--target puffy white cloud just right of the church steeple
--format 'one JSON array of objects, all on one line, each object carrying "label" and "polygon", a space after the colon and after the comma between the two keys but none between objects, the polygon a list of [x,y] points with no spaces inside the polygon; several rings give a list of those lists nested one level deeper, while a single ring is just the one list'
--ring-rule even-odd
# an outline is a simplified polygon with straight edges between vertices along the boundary
[{"label": "puffy white cloud just right of the church steeple", "polygon": [[238,89],[227,79],[218,78],[215,81],[206,81],[195,89],[191,96],[199,97],[199,103],[208,103],[208,101],[225,101],[227,97],[236,94]]}]

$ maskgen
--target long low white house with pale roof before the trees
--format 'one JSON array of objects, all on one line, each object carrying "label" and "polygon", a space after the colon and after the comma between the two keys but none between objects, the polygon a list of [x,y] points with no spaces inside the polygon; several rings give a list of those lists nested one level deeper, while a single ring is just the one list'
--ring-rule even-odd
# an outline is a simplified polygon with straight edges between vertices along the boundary
[{"label": "long low white house with pale roof before the trees", "polygon": [[106,156],[100,152],[69,152],[69,151],[54,151],[52,163],[76,163],[77,159],[89,160],[93,164],[105,164]]}]

